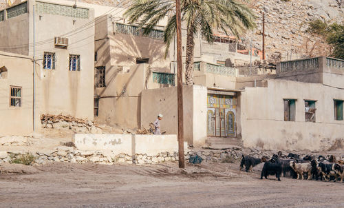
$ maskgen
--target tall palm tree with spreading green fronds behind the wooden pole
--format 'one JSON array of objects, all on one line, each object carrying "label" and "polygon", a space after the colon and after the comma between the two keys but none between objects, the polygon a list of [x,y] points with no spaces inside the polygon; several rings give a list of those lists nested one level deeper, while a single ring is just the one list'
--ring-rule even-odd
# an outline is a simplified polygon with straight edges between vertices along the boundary
[{"label": "tall palm tree with spreading green fronds behind the wooden pole", "polygon": [[[164,30],[165,56],[175,37],[175,1],[173,0],[133,0],[133,5],[125,12],[129,23],[138,23],[143,34],[148,35],[158,21],[169,16]],[[181,0],[182,22],[186,25],[185,78],[187,85],[193,85],[194,37],[201,34],[208,43],[214,41],[214,30],[235,36],[255,28],[255,15],[246,5],[235,0]]]}]

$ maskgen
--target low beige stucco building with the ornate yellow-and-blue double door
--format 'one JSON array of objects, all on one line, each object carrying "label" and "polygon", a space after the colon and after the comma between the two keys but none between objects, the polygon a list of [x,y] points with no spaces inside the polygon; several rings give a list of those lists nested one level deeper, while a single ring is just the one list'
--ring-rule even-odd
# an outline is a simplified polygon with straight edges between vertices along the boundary
[{"label": "low beige stucco building with the ornate yellow-and-blue double door", "polygon": [[[203,76],[201,85],[184,87],[184,136],[189,145],[326,150],[344,139],[343,60],[281,62],[277,74]],[[144,90],[141,124],[166,114],[162,131],[176,134],[176,100],[175,87]]]}]

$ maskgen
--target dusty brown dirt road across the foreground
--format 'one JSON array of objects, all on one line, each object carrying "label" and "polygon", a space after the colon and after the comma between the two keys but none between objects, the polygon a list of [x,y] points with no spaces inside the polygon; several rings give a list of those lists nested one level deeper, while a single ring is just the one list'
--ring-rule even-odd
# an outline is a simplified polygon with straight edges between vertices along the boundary
[{"label": "dusty brown dirt road across the foreground", "polygon": [[232,163],[177,166],[3,163],[0,207],[344,207],[344,183],[260,180],[261,166],[247,174]]}]

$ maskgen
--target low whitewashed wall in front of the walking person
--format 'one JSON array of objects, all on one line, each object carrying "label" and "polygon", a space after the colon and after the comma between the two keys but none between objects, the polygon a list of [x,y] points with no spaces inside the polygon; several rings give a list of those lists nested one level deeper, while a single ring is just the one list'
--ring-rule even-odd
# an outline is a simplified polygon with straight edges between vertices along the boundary
[{"label": "low whitewashed wall in front of the walking person", "polygon": [[[80,150],[103,150],[131,156],[136,154],[153,156],[161,152],[178,152],[178,141],[175,134],[75,134],[74,144]],[[187,150],[186,142],[184,150]]]}]

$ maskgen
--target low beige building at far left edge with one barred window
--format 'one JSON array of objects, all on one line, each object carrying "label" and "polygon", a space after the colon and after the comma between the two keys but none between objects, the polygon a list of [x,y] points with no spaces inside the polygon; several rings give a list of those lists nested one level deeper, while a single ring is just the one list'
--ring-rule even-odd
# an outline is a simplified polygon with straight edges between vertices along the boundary
[{"label": "low beige building at far left edge with one barred window", "polygon": [[33,123],[41,127],[39,112],[33,115],[33,65],[30,56],[0,52],[0,136],[30,136]]}]

